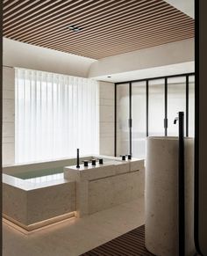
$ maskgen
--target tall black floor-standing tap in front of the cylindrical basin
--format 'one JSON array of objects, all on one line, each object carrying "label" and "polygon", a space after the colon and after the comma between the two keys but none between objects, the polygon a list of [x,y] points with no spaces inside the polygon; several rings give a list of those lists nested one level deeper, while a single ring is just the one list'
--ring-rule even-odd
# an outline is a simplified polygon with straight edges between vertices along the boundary
[{"label": "tall black floor-standing tap in front of the cylindrical basin", "polygon": [[179,256],[185,255],[185,159],[184,159],[184,113],[179,112],[174,123],[178,121],[178,230]]}]

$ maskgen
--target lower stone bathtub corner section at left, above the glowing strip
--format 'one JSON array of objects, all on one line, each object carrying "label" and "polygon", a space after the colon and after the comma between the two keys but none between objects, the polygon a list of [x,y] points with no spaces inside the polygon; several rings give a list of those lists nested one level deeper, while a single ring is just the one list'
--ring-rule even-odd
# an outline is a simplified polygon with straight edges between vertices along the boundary
[{"label": "lower stone bathtub corner section at left, above the glowing strip", "polygon": [[39,223],[75,211],[75,182],[54,179],[30,183],[3,174],[3,216],[29,230]]}]

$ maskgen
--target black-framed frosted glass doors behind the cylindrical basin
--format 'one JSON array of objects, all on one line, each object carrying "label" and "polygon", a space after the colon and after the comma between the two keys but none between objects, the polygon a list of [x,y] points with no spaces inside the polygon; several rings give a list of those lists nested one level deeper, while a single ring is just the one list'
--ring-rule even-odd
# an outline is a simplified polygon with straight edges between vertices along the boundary
[{"label": "black-framed frosted glass doors behind the cylindrical basin", "polygon": [[152,77],[115,84],[115,156],[146,156],[146,137],[177,135],[184,112],[185,136],[194,136],[195,75]]}]

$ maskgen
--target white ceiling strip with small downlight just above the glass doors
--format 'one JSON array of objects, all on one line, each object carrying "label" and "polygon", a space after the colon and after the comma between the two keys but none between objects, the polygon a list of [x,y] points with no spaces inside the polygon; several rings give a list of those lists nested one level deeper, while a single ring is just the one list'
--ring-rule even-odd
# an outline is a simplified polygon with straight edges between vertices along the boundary
[{"label": "white ceiling strip with small downlight just above the glass doors", "polygon": [[139,69],[124,73],[113,74],[110,76],[93,77],[93,79],[111,83],[139,80],[150,77],[164,77],[170,75],[178,75],[182,73],[195,72],[195,62],[184,62],[167,66],[155,67],[151,69]]}]

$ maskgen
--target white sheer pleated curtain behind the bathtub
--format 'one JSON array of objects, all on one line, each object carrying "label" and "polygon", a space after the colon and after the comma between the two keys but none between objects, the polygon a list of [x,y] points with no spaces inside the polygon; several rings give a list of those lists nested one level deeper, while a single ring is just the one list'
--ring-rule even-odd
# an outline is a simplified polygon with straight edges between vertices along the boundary
[{"label": "white sheer pleated curtain behind the bathtub", "polygon": [[16,69],[16,163],[98,154],[98,83]]}]

